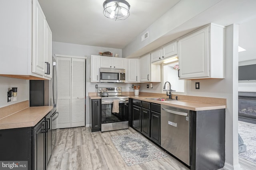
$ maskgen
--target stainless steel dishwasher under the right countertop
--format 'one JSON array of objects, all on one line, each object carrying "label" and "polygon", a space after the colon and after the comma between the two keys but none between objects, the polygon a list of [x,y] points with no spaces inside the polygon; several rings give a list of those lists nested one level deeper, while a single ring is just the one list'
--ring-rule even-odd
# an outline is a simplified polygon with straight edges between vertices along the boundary
[{"label": "stainless steel dishwasher under the right countertop", "polygon": [[161,147],[190,166],[189,110],[161,105]]}]

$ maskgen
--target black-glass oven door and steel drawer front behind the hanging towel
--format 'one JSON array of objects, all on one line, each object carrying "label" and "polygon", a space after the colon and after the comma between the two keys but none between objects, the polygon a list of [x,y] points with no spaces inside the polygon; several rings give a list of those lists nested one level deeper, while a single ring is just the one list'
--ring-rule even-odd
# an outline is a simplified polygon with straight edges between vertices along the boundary
[{"label": "black-glass oven door and steel drawer front behind the hanging towel", "polygon": [[[101,102],[101,131],[111,131],[128,128],[128,116],[124,115],[124,104],[128,99],[119,100],[119,113],[113,113],[113,99],[104,99]],[[128,114],[128,113],[127,113]]]}]

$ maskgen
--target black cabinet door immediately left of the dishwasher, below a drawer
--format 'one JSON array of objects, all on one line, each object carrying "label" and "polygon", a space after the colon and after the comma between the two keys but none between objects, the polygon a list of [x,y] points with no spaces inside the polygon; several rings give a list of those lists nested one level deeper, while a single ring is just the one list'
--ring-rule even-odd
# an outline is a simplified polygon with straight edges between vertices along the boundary
[{"label": "black cabinet door immediately left of the dishwasher, below a drawer", "polygon": [[151,111],[150,139],[161,145],[161,114]]}]

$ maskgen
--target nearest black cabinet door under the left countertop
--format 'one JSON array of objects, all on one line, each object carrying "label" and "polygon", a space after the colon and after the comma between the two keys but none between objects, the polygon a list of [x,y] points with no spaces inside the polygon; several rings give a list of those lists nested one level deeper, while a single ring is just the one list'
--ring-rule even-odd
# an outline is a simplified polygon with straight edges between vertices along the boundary
[{"label": "nearest black cabinet door under the left countertop", "polygon": [[34,169],[45,170],[45,121],[41,121],[34,128]]}]

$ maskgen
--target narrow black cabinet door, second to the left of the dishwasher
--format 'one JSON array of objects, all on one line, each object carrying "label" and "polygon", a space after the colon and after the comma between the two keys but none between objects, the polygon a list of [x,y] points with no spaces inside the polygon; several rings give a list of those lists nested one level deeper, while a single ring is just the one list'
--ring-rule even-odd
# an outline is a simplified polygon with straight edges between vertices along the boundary
[{"label": "narrow black cabinet door, second to the left of the dishwasher", "polygon": [[150,136],[150,111],[148,109],[141,109],[141,132],[143,135]]}]

